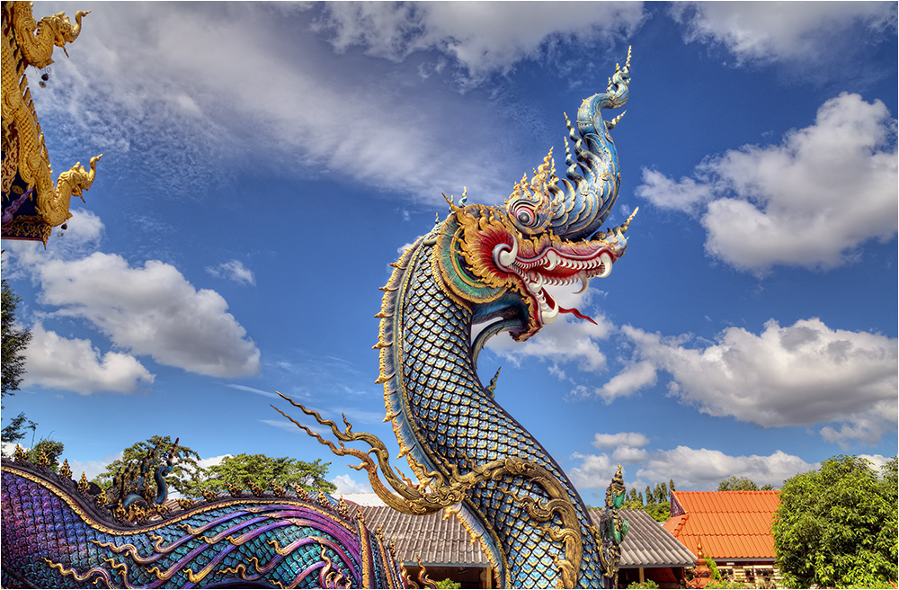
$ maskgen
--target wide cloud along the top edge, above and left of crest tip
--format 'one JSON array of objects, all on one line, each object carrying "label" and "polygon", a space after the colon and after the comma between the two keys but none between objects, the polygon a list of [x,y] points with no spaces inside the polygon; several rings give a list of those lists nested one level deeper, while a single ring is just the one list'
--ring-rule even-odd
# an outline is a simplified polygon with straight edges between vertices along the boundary
[{"label": "wide cloud along the top edge, above and left of crest tip", "polygon": [[346,2],[327,4],[318,26],[332,33],[338,51],[360,46],[394,61],[440,51],[467,71],[465,83],[477,84],[551,52],[558,40],[609,42],[632,34],[643,19],[643,4],[631,2]]}]

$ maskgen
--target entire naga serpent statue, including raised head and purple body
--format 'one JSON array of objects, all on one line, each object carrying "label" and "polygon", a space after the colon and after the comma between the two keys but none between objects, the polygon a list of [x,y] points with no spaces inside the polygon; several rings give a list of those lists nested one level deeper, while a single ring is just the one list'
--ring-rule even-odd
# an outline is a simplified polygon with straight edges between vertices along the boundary
[{"label": "entire naga serpent statue, including raised head and purple body", "polygon": [[[465,193],[458,204],[448,199],[449,216],[393,264],[377,315],[378,383],[385,421],[417,481],[389,464],[378,437],[282,396],[330,427],[337,444],[282,412],[334,453],[361,460],[357,469],[387,505],[407,514],[445,510],[465,524],[500,587],[596,588],[617,576],[628,525],[618,515],[620,470],[596,527],[556,460],[496,403],[496,378],[482,385],[476,363],[501,332],[523,341],[559,314],[589,319],[560,307],[545,287],[586,289],[624,254],[630,219],[601,230],[620,183],[609,133],[620,116],[604,121],[601,111],[628,100],[629,62],[628,51],[607,91],[583,101],[576,129],[565,118],[566,178],[556,177],[550,150],[504,207],[467,205]],[[171,457],[122,474],[111,499],[92,495],[85,478],[76,484],[67,464],[58,476],[22,454],[3,463],[4,587],[432,586],[410,579],[393,543],[343,499],[232,488],[165,513]]]}]

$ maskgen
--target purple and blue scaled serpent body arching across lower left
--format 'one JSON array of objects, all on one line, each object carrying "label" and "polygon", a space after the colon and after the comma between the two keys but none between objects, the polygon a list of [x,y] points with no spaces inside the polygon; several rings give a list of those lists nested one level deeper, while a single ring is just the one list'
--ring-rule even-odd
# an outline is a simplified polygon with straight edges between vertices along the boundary
[{"label": "purple and blue scaled serpent body arching across lower left", "polygon": [[76,498],[79,492],[67,493],[58,487],[60,478],[46,475],[56,479],[55,489],[41,484],[40,473],[22,473],[4,461],[4,587],[194,587],[244,581],[311,588],[322,582],[323,549],[332,571],[343,574],[342,583],[359,587],[361,542],[375,561],[371,586],[387,586],[388,568],[394,580],[402,579],[396,562],[380,562],[375,535],[360,541],[357,523],[333,512],[333,499],[327,509],[282,498],[227,500],[131,532],[96,521]]}]

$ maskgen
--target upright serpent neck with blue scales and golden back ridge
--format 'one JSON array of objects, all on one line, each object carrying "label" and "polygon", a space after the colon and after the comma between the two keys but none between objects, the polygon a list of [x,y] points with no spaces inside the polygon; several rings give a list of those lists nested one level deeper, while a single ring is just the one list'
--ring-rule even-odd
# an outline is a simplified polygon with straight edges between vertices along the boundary
[{"label": "upright serpent neck with blue scales and golden back ridge", "polygon": [[[433,246],[423,239],[401,261],[392,316],[393,383],[386,388],[387,410],[399,413],[395,430],[401,446],[429,469],[450,476],[473,465],[519,457],[547,469],[566,488],[582,523],[583,560],[579,584],[600,587],[601,567],[591,521],[563,470],[523,426],[485,390],[471,358],[472,312],[441,288],[432,264]],[[480,534],[501,584],[546,587],[556,584],[556,563],[564,559],[560,541],[549,541],[547,523],[529,516],[521,498],[545,499],[538,484],[506,476],[473,488],[459,516]],[[524,523],[524,524],[522,524]],[[549,526],[562,528],[554,517]]]}]

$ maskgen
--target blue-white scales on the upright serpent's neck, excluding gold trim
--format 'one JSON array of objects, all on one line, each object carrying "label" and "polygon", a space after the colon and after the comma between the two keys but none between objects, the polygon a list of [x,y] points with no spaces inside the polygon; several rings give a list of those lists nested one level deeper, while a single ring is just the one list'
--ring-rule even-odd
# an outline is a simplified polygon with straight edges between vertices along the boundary
[{"label": "blue-white scales on the upright serpent's neck, excluding gold trim", "polygon": [[[578,498],[564,472],[542,446],[481,387],[470,359],[471,313],[435,283],[430,264],[432,246],[421,246],[402,302],[400,335],[403,387],[423,438],[423,447],[449,460],[462,473],[467,459],[483,464],[505,456],[533,461],[552,472]],[[545,497],[542,487],[519,477],[485,482],[471,491],[468,502],[483,521],[492,523],[500,546],[508,546],[509,584],[513,587],[555,586],[554,557],[564,557],[562,543],[550,543],[534,526],[516,496]],[[581,523],[590,523],[579,499]],[[552,524],[561,528],[561,518]],[[582,528],[583,561],[579,584],[601,587],[599,553],[592,534]]]}]

